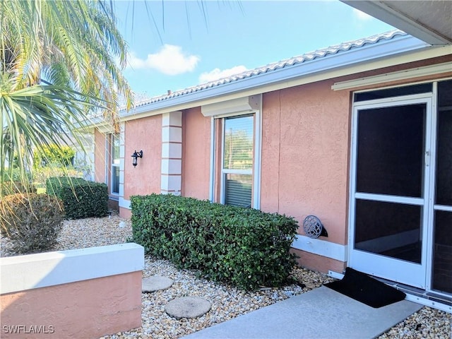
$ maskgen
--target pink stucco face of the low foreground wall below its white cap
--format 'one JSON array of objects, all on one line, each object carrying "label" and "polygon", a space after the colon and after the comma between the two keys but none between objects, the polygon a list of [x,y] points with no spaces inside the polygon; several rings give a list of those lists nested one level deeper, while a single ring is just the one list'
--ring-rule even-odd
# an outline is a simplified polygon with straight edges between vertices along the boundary
[{"label": "pink stucco face of the low foreground wall below its white cap", "polygon": [[0,300],[1,338],[99,338],[141,326],[141,271],[8,293]]}]

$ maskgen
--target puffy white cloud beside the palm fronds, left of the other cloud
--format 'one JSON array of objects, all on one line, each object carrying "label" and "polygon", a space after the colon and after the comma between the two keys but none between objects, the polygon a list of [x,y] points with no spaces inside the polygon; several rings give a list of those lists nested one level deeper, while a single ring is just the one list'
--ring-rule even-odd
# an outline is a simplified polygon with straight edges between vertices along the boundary
[{"label": "puffy white cloud beside the palm fronds, left of the other cloud", "polygon": [[182,47],[165,44],[155,54],[148,54],[146,59],[140,59],[133,52],[129,54],[128,66],[132,69],[155,69],[169,76],[176,76],[195,69],[200,60],[196,55],[182,51]]}]

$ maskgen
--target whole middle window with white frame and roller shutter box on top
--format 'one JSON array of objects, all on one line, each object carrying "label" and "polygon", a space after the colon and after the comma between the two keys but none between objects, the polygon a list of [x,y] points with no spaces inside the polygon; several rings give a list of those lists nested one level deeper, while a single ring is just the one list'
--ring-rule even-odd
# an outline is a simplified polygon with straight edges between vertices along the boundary
[{"label": "whole middle window with white frame and roller shutter box on top", "polygon": [[212,202],[261,208],[261,95],[201,106],[210,117]]}]

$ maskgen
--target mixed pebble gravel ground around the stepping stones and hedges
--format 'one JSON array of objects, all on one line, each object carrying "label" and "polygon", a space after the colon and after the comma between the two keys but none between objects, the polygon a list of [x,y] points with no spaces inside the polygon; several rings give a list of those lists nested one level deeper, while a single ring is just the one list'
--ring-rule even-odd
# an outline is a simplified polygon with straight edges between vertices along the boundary
[{"label": "mixed pebble gravel ground around the stepping stones and hedges", "polygon": [[[78,249],[90,246],[119,244],[131,237],[130,220],[112,215],[107,218],[66,220],[58,239],[57,249]],[[0,255],[12,256],[8,239],[0,239]],[[103,338],[180,338],[215,323],[227,321],[249,311],[266,307],[280,300],[307,292],[332,281],[327,275],[303,268],[294,268],[292,275],[299,284],[281,288],[264,288],[244,292],[229,285],[200,278],[191,270],[178,270],[169,261],[145,257],[143,278],[161,275],[174,280],[167,290],[142,294],[142,327]],[[174,319],[165,313],[165,305],[176,297],[203,297],[212,308],[196,319]],[[384,333],[386,338],[452,338],[452,314],[422,307],[408,319]],[[287,324],[296,326],[296,324]]]}]

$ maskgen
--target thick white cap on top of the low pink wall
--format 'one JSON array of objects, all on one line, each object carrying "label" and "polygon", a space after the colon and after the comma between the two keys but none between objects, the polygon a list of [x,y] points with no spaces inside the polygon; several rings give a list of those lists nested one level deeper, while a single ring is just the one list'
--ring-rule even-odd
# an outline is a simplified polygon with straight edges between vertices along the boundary
[{"label": "thick white cap on top of the low pink wall", "polygon": [[116,244],[0,258],[0,294],[136,272],[144,248]]}]

